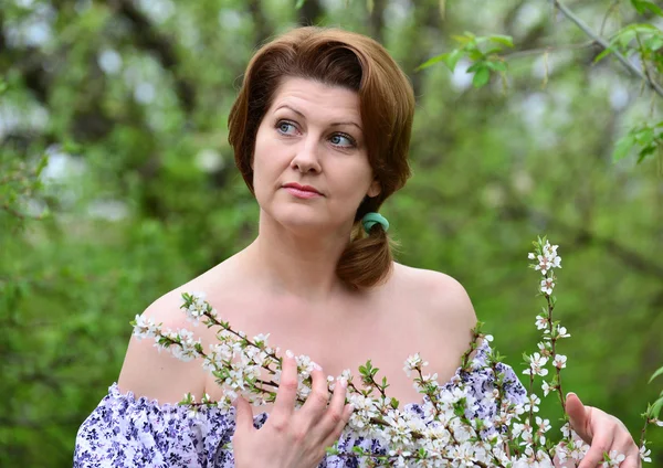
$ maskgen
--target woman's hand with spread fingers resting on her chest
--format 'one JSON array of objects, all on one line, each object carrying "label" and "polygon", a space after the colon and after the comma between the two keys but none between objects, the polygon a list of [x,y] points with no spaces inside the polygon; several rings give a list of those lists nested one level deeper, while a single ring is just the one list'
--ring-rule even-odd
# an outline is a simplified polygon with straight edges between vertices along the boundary
[{"label": "woman's hand with spread fingers resting on her chest", "polygon": [[304,405],[295,410],[297,363],[288,351],[283,359],[274,408],[260,429],[253,427],[253,410],[249,402],[242,397],[236,400],[232,438],[236,468],[312,468],[319,465],[325,449],[340,437],[352,407],[345,404],[347,382],[336,384],[329,402],[323,370],[317,366],[311,376],[311,394]]}]

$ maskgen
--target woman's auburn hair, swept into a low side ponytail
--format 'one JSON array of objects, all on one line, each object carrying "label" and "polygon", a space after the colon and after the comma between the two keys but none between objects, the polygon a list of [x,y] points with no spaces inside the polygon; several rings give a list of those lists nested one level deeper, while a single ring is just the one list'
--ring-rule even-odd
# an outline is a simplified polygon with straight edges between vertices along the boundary
[{"label": "woman's auburn hair, swept into a low side ponytail", "polygon": [[392,268],[391,243],[379,224],[366,235],[361,219],[366,213],[377,212],[410,177],[412,86],[385,47],[361,34],[305,26],[264,44],[249,62],[228,120],[228,140],[234,150],[235,163],[252,193],[251,164],[257,128],[286,77],[341,86],[359,96],[368,160],[381,191],[377,196],[366,196],[358,206],[352,234],[336,272],[354,289],[383,283]]}]

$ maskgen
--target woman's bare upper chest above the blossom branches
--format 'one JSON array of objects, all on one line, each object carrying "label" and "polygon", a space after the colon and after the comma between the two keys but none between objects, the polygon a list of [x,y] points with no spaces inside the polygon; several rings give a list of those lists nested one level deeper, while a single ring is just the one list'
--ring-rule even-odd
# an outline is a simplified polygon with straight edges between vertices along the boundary
[{"label": "woman's bare upper chest above the blossom branches", "polygon": [[[224,317],[235,330],[249,337],[270,333],[271,347],[281,348],[281,353],[292,350],[308,355],[326,375],[336,377],[349,369],[356,385],[360,384],[358,368],[371,360],[379,369],[376,380],[387,377],[388,395],[401,404],[421,401],[413,381],[403,371],[409,355],[419,352],[429,362],[427,373],[436,373],[438,381],[445,383],[469,345],[467,331],[440,327],[430,320],[430,315],[412,310],[407,301],[397,298],[318,308],[286,300],[244,299],[243,302],[229,308],[234,310],[232,317]],[[222,394],[212,375],[208,376],[206,387],[212,397]]]}]

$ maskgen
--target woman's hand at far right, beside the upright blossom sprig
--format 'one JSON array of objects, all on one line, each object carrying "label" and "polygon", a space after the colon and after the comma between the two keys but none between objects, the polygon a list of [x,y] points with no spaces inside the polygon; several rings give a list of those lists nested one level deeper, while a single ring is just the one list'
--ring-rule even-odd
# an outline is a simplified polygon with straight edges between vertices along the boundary
[{"label": "woman's hand at far right, beside the upright blossom sprig", "polygon": [[617,417],[592,406],[585,406],[578,395],[569,393],[566,401],[571,428],[591,446],[578,468],[596,468],[603,461],[603,453],[617,451],[625,456],[620,468],[641,468],[640,449],[633,437]]}]

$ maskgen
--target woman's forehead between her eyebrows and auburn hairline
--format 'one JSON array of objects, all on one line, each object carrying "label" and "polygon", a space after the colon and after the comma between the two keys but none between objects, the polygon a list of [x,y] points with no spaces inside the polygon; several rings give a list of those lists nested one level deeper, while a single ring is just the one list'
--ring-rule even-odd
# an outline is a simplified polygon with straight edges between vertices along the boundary
[{"label": "woman's forehead between her eyebrows and auburn hairline", "polygon": [[361,124],[359,95],[357,92],[340,86],[329,86],[307,78],[284,78],[271,106],[275,111],[282,106],[288,106],[306,117],[344,119],[351,118]]}]

